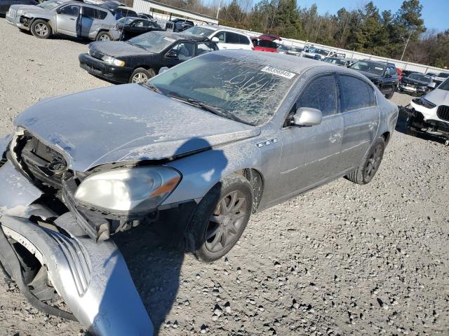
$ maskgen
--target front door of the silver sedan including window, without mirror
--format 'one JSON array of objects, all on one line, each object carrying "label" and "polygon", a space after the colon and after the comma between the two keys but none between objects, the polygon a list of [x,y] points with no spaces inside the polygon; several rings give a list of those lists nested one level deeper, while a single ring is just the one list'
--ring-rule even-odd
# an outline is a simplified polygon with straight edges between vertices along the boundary
[{"label": "front door of the silver sedan including window, without mirror", "polygon": [[274,197],[277,202],[340,176],[343,117],[339,105],[333,73],[312,78],[300,94],[290,114],[309,107],[321,110],[323,120],[311,127],[286,121],[281,130],[282,154]]}]

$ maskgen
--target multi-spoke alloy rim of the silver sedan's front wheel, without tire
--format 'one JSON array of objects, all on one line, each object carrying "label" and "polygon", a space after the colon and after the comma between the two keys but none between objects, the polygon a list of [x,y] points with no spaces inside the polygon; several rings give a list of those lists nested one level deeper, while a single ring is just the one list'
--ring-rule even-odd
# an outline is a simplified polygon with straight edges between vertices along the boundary
[{"label": "multi-spoke alloy rim of the silver sedan's front wheel, without tire", "polygon": [[235,243],[236,235],[246,217],[246,196],[232,191],[218,202],[208,223],[205,246],[210,252],[218,252]]}]

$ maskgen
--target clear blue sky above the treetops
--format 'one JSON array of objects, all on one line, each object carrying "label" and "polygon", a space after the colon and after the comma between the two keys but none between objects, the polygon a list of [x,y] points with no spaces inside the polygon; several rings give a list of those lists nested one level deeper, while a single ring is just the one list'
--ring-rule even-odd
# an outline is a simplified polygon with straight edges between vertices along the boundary
[{"label": "clear blue sky above the treetops", "polygon": [[[310,7],[316,3],[320,14],[326,12],[335,14],[342,7],[352,10],[361,8],[368,2],[366,0],[297,0],[297,5]],[[391,10],[391,12],[396,13],[403,0],[373,0],[373,3],[381,12],[382,10]],[[422,18],[427,29],[434,28],[439,31],[449,29],[449,0],[421,0],[420,3],[422,4]]]}]

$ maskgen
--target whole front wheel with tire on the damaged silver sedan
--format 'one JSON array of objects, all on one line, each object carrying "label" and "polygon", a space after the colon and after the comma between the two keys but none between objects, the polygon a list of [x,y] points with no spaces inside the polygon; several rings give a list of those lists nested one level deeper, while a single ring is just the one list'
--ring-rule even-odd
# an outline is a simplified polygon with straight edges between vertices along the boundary
[{"label": "whole front wheel with tire on the damaged silver sedan", "polygon": [[222,258],[239,241],[252,208],[253,191],[249,181],[237,174],[227,176],[196,208],[186,234],[187,252],[201,262]]}]

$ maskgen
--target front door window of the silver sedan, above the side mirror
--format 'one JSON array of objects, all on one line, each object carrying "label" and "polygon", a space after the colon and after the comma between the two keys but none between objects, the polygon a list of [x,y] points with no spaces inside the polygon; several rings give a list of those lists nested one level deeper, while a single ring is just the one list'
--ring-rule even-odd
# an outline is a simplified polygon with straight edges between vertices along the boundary
[{"label": "front door window of the silver sedan, above the side mirror", "polygon": [[337,83],[334,75],[313,79],[296,102],[296,109],[310,107],[319,109],[323,117],[337,114]]}]

